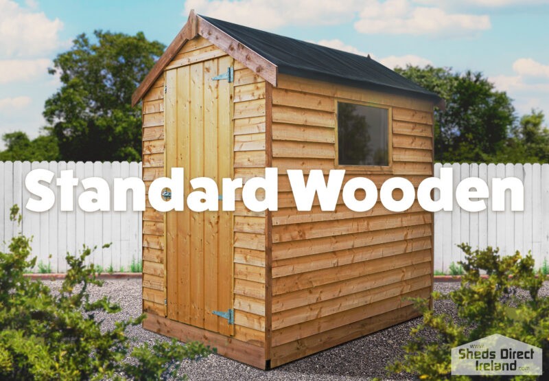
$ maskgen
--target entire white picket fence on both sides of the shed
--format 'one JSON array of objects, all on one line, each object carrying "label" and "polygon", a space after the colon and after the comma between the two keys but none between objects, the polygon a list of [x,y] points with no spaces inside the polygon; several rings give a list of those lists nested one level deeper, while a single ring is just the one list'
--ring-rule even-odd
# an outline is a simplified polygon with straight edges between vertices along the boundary
[{"label": "entire white picket fence on both sides of the shed", "polygon": [[[549,260],[549,164],[440,164],[434,165],[434,174],[439,176],[442,167],[454,170],[454,193],[457,184],[467,177],[480,177],[487,182],[491,191],[494,177],[514,176],[524,183],[524,211],[511,211],[509,192],[506,196],[506,211],[487,210],[469,213],[458,207],[454,198],[453,211],[434,213],[434,268],[447,272],[452,262],[463,259],[457,245],[468,242],[474,248],[488,245],[500,247],[505,254],[532,251],[539,267],[544,259]],[[23,213],[23,233],[33,236],[33,253],[38,262],[51,265],[52,272],[67,269],[65,253],[75,253],[82,245],[99,246],[90,261],[108,269],[129,270],[132,262],[141,261],[141,213],[131,211],[128,197],[128,211],[84,213],[60,211],[58,187],[52,181],[50,188],[56,194],[56,205],[44,213],[28,211],[24,203],[30,197],[25,189],[25,176],[31,170],[45,168],[56,174],[61,170],[73,169],[74,176],[104,178],[113,189],[113,178],[141,176],[141,163],[100,162],[0,162],[0,242],[8,242],[17,230],[16,223],[9,220],[9,210],[14,204]],[[82,185],[75,190],[75,200],[83,192]],[[111,200],[112,206],[112,200]],[[112,209],[112,207],[111,207]],[[112,246],[101,249],[102,244]],[[0,250],[5,244],[0,244]],[[49,257],[51,255],[51,258]],[[35,268],[34,270],[38,270]]]}]

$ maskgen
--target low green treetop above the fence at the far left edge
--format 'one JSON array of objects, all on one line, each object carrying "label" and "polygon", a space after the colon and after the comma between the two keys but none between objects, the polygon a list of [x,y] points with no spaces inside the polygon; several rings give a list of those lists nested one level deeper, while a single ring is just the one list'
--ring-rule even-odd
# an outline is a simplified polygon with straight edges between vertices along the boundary
[{"label": "low green treetop above the fence at the far left edge", "polygon": [[0,161],[54,161],[59,159],[57,139],[40,135],[29,139],[22,131],[10,132],[2,137],[6,149],[0,152]]}]

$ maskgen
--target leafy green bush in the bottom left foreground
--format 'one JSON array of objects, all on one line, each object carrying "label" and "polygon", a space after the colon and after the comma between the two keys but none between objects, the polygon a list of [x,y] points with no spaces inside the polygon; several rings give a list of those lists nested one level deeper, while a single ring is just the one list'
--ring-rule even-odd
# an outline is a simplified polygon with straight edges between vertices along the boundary
[{"label": "leafy green bush in the bottom left foreground", "polygon": [[[19,220],[12,208],[12,220]],[[93,266],[78,256],[67,255],[69,269],[59,292],[40,281],[24,277],[36,264],[30,239],[12,238],[8,253],[0,252],[0,380],[159,380],[175,376],[180,361],[211,353],[200,343],[154,343],[131,349],[126,328],[137,319],[118,321],[110,331],[95,319],[99,312],[119,312],[106,297],[90,301],[88,288],[102,286]],[[132,361],[125,362],[130,356]]]}]

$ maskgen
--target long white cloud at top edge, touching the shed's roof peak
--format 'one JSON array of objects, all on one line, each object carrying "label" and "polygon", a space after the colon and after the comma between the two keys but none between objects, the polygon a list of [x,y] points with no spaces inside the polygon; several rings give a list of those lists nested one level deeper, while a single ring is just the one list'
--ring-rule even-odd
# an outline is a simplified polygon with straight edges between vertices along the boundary
[{"label": "long white cloud at top edge, touching the shed's roof peak", "polygon": [[353,19],[362,0],[187,0],[184,14],[191,9],[222,19],[272,30],[284,25],[337,25]]}]

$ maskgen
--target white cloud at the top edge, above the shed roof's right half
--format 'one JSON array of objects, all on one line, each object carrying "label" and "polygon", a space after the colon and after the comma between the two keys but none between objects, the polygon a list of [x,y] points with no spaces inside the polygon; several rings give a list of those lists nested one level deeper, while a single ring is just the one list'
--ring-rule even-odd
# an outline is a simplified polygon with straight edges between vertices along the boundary
[{"label": "white cloud at the top edge, above the shed roof's right half", "polygon": [[490,28],[487,15],[449,13],[411,0],[366,0],[355,23],[355,30],[365,34],[471,36]]}]

